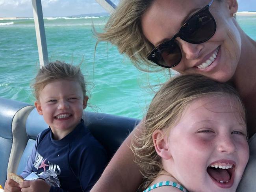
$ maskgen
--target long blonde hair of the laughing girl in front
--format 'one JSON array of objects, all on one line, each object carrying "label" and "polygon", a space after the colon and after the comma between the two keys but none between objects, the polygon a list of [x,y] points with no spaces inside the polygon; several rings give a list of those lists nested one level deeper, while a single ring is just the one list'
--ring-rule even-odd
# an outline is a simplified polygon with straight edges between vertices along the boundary
[{"label": "long blonde hair of the laughing girl in front", "polygon": [[131,149],[135,154],[135,162],[140,166],[144,177],[141,189],[145,190],[163,171],[161,157],[154,148],[153,132],[158,129],[168,131],[178,123],[191,102],[207,96],[229,96],[231,107],[234,101],[241,106],[236,110],[241,114],[241,122],[246,124],[245,107],[231,85],[193,74],[178,76],[168,81],[156,93],[148,108],[142,134],[134,136],[132,140]]}]

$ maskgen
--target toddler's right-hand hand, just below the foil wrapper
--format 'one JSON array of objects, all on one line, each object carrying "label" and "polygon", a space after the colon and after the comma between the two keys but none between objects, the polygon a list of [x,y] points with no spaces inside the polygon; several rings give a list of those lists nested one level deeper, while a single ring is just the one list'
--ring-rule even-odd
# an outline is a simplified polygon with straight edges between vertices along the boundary
[{"label": "toddler's right-hand hand, just below the foil wrapper", "polygon": [[20,188],[22,188],[22,192],[49,192],[51,186],[44,180],[37,179],[33,181],[23,181],[20,183]]}]

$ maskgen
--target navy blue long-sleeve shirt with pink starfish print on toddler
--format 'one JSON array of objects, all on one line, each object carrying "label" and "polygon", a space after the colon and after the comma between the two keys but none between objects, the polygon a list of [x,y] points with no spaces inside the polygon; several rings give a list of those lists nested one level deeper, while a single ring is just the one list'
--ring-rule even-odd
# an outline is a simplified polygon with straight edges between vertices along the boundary
[{"label": "navy blue long-sleeve shirt with pink starfish print on toddler", "polygon": [[87,192],[102,174],[106,163],[106,151],[81,120],[61,140],[52,138],[51,129],[42,131],[21,176],[25,178],[31,172],[39,174],[54,170],[61,186],[52,186],[50,192]]}]

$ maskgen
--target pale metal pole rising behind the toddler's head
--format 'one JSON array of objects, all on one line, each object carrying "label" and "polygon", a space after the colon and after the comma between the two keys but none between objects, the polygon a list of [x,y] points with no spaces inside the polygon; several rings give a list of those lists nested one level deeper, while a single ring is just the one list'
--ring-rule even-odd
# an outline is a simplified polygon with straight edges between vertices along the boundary
[{"label": "pale metal pole rising behind the toddler's head", "polygon": [[37,38],[37,48],[39,54],[39,63],[40,67],[42,67],[48,63],[48,52],[41,0],[32,0],[32,6],[35,22],[35,33]]}]

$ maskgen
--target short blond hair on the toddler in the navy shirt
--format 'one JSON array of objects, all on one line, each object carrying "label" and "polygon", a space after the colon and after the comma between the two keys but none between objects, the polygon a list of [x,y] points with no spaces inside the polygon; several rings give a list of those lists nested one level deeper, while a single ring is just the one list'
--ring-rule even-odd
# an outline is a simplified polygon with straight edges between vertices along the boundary
[{"label": "short blond hair on the toddler in the navy shirt", "polygon": [[82,88],[83,96],[86,96],[85,81],[80,67],[61,61],[55,61],[39,69],[35,77],[35,82],[32,85],[35,98],[39,100],[40,91],[43,90],[48,83],[59,79],[78,81]]}]

